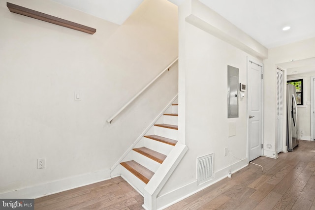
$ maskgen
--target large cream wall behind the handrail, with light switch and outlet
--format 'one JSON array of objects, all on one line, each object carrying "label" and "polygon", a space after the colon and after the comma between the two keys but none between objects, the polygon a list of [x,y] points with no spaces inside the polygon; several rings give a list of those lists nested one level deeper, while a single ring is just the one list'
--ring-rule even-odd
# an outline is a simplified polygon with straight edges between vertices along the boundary
[{"label": "large cream wall behind the handrail, with light switch and outlet", "polygon": [[[118,26],[54,1],[10,2],[96,33],[11,13],[0,0],[0,193],[30,188],[24,198],[35,197],[109,178],[178,91],[176,70],[166,72],[106,122],[177,57],[177,7],[145,0]],[[74,101],[74,91],[82,101]],[[46,168],[38,170],[42,157]]]}]

